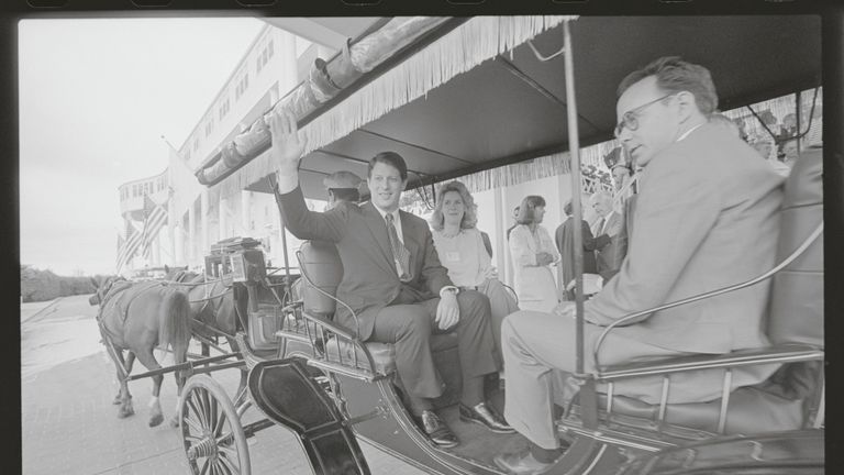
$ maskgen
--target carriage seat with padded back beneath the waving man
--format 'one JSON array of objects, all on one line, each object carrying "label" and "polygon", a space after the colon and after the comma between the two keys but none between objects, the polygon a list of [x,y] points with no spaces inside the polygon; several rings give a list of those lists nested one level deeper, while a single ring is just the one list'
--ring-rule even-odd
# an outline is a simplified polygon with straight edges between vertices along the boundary
[{"label": "carriage seat with padded back beneath the waving man", "polygon": [[[297,257],[303,275],[301,298],[304,313],[332,320],[337,306],[337,285],[343,277],[343,264],[336,247],[330,242],[306,241]],[[304,278],[306,276],[308,278]],[[446,386],[445,394],[435,400],[435,406],[438,407],[456,401],[459,396],[462,379],[457,341],[455,332],[431,335],[434,365]],[[356,357],[359,362],[366,362],[366,355],[359,351],[355,355],[355,346],[343,339],[337,342],[336,338],[332,338],[324,346],[331,357],[342,355],[344,361],[353,361]],[[365,346],[373,357],[375,373],[389,375],[396,372],[396,349],[392,344],[366,342]]]}]

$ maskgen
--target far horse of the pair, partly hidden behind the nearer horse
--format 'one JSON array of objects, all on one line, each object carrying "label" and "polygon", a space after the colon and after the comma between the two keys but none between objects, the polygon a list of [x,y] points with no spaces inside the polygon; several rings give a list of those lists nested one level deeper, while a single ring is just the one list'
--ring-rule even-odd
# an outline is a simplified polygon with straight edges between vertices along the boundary
[{"label": "far horse of the pair, partly hidden behind the nearer horse", "polygon": [[[195,335],[204,339],[224,336],[232,352],[240,347],[234,339],[237,332],[237,311],[235,310],[233,290],[223,279],[208,280],[202,274],[179,269],[167,274],[165,281],[178,286],[181,284],[190,300],[191,329]],[[242,322],[242,325],[245,322]],[[208,346],[203,344],[203,356]],[[246,387],[246,372],[241,372],[241,383],[237,393]]]}]

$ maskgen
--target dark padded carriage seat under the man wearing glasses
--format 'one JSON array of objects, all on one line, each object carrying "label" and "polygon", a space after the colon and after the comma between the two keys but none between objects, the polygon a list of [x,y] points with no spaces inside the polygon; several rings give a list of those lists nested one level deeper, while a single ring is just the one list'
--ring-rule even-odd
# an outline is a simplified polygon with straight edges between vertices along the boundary
[{"label": "dark padded carriage seat under the man wearing glasses", "polygon": [[[821,188],[822,151],[811,147],[800,156],[786,181],[780,211],[779,243],[776,262],[782,262],[812,232],[823,219]],[[743,353],[786,354],[807,352],[822,354],[823,343],[823,235],[819,236],[800,256],[774,276],[766,333],[773,347],[759,351],[733,352],[719,356],[670,358],[648,364],[604,368],[604,374],[655,364],[676,364],[698,358],[712,361],[741,356]],[[767,380],[730,394],[724,433],[759,433],[795,430],[811,422],[823,391],[822,361],[786,363]],[[675,373],[676,374],[676,373]],[[573,380],[559,382],[564,386],[557,402],[574,394]],[[599,394],[599,408],[606,411],[608,397]],[[668,404],[665,421],[682,427],[715,432],[721,399],[708,402]],[[822,407],[820,408],[822,411]],[[615,395],[612,413],[654,421],[659,406]],[[821,417],[822,418],[822,417]]]}]

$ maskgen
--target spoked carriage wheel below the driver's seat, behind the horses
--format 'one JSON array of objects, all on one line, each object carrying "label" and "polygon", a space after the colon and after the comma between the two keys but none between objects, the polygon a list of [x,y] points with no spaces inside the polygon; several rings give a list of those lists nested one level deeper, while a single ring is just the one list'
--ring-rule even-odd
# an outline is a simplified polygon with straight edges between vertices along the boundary
[{"label": "spoked carriage wheel below the driver's seat, behind the horses", "polygon": [[195,475],[249,475],[249,449],[232,400],[207,375],[188,379],[179,405],[179,427]]}]

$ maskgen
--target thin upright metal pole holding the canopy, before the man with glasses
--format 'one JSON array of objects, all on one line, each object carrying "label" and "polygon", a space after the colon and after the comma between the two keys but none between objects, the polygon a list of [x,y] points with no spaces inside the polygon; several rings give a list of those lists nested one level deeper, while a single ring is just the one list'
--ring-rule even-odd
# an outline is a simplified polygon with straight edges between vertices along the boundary
[{"label": "thin upright metal pole holding the canopy, before the man with glasses", "polygon": [[[582,209],[580,202],[580,139],[577,130],[577,101],[575,99],[575,74],[571,52],[571,34],[569,21],[563,21],[563,41],[566,54],[563,55],[566,80],[566,112],[568,120],[568,150],[571,164],[571,207],[574,213],[575,244],[575,310],[576,310],[576,344],[577,352],[576,371],[584,374],[584,235],[582,235]],[[563,284],[565,285],[565,284]]]}]

